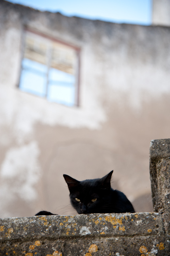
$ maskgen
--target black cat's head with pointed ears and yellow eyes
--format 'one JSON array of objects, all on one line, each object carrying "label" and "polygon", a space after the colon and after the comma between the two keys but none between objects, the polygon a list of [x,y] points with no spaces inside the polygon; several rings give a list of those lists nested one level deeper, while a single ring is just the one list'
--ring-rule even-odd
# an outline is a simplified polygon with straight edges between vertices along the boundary
[{"label": "black cat's head with pointed ears and yellow eyes", "polygon": [[101,179],[81,182],[69,175],[63,175],[70,191],[72,206],[78,214],[102,213],[101,208],[109,201],[112,173],[113,171]]}]

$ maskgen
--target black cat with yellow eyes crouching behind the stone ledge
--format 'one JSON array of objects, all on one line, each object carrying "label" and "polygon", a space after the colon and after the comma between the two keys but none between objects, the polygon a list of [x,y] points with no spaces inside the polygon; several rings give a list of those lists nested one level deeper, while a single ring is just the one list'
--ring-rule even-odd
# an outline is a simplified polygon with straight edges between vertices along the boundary
[{"label": "black cat with yellow eyes crouching behind the stone ledge", "polygon": [[111,188],[112,173],[81,182],[63,175],[70,190],[70,201],[78,214],[135,212],[124,193]]}]

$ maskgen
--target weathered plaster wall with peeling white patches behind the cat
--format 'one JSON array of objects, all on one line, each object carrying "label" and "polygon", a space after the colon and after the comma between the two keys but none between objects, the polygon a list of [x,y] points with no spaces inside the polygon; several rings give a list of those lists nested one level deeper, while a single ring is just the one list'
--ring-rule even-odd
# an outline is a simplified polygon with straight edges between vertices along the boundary
[{"label": "weathered plaster wall with peeling white patches behind the cat", "polygon": [[[81,48],[79,108],[16,87],[24,26]],[[113,188],[137,211],[152,210],[148,145],[169,137],[169,41],[169,27],[65,17],[0,1],[1,217],[41,209],[71,214],[62,175],[83,180],[112,169]]]}]

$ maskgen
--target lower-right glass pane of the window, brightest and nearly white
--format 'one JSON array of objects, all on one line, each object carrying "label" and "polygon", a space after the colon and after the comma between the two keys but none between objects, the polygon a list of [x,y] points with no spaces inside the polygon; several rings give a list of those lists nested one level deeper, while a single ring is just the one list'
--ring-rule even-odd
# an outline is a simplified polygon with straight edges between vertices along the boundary
[{"label": "lower-right glass pane of the window, brightest and nearly white", "polygon": [[74,106],[74,94],[75,88],[72,83],[62,83],[62,85],[51,83],[48,87],[47,99],[66,106]]}]

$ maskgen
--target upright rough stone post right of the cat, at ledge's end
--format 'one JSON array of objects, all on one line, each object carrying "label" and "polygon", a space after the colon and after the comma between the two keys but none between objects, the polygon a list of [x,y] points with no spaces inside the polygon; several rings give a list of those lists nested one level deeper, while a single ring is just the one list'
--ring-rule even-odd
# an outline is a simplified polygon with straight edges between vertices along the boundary
[{"label": "upright rough stone post right of the cat, at ledge's end", "polygon": [[154,211],[162,213],[170,236],[170,139],[151,141],[150,180]]}]

